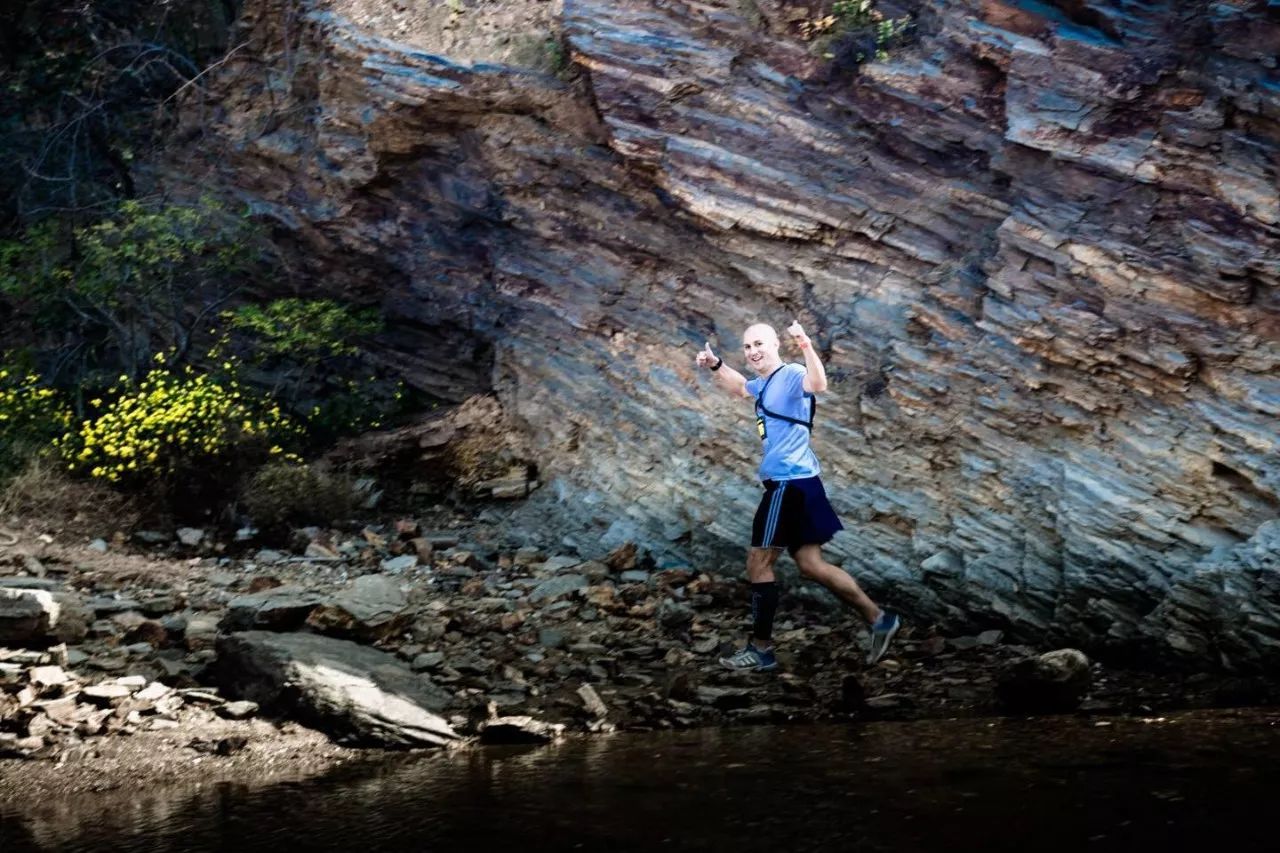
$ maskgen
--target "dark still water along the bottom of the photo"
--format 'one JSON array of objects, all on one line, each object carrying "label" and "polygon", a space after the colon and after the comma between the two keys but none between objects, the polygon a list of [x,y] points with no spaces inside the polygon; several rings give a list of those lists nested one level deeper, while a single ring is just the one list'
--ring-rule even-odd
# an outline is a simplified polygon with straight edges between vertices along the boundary
[{"label": "dark still water along the bottom of the photo", "polygon": [[1280,849],[1280,710],[571,739],[3,813],[0,850]]}]

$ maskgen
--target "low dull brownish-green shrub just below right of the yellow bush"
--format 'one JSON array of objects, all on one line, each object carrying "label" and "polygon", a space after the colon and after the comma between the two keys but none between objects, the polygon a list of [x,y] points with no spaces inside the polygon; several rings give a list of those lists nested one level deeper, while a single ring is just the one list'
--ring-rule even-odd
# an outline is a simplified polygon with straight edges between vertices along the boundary
[{"label": "low dull brownish-green shrub just below right of the yellow bush", "polygon": [[348,478],[291,462],[260,467],[241,488],[239,500],[264,528],[329,524],[356,510],[356,489]]}]

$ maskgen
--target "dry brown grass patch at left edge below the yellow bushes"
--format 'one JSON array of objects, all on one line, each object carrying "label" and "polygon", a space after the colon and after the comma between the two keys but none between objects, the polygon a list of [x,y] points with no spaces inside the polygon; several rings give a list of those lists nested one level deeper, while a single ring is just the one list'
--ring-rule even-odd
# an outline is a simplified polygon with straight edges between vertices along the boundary
[{"label": "dry brown grass patch at left edge below the yellow bushes", "polygon": [[136,498],[99,483],[73,479],[58,461],[37,456],[0,489],[0,517],[9,516],[42,526],[110,535],[132,529],[141,512]]}]

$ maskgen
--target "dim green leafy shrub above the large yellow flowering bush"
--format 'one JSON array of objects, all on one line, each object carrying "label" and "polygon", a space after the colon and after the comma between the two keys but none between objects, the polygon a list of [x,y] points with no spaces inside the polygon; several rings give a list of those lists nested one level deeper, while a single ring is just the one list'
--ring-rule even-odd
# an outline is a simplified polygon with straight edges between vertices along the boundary
[{"label": "dim green leafy shrub above the large yellow flowering bush", "polygon": [[[76,339],[69,384],[102,365],[136,378],[165,345],[193,334],[262,261],[252,223],[212,199],[124,201],[87,225],[46,219],[0,243],[0,296]],[[114,373],[114,370],[113,370]]]}]

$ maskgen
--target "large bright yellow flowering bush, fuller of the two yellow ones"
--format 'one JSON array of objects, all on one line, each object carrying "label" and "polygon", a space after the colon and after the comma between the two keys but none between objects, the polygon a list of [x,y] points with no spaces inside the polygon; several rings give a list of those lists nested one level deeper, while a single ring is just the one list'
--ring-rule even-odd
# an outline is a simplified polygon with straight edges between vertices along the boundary
[{"label": "large bright yellow flowering bush, fuller of the two yellow ones", "polygon": [[[278,406],[234,379],[163,365],[133,383],[120,377],[106,400],[56,442],[68,469],[115,484],[216,475],[252,457],[292,459],[284,446],[298,428]],[[229,464],[229,465],[228,465]],[[230,473],[230,471],[228,471]],[[218,479],[215,476],[215,479]]]}]

